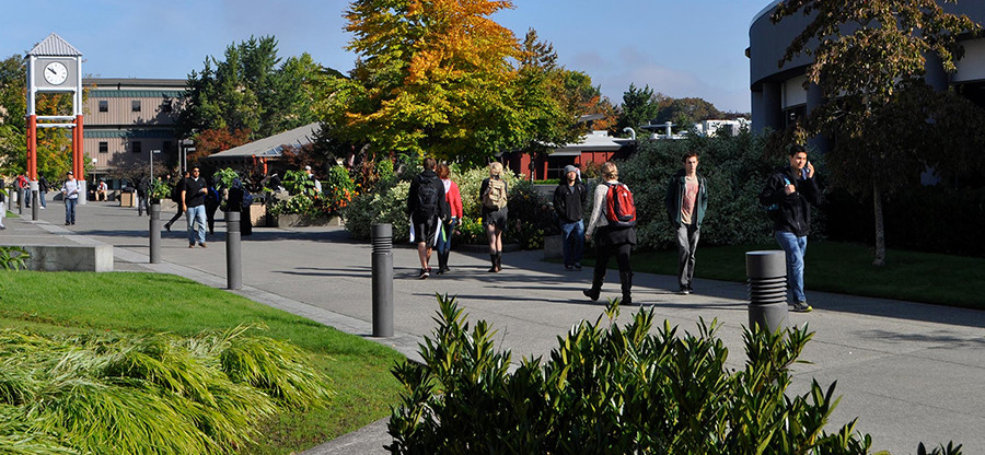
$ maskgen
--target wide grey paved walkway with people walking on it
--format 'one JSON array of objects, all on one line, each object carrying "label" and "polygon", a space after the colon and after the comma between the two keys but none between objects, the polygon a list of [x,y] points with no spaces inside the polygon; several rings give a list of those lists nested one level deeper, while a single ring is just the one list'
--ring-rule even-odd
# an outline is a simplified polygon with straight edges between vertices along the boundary
[{"label": "wide grey paved walkway with people walking on it", "polygon": [[[115,246],[116,270],[174,273],[225,288],[224,224],[217,222],[209,248],[188,249],[184,232],[163,233],[162,259],[148,264],[148,218],[113,202],[78,209],[78,224],[63,226],[63,208],[50,202],[38,222],[7,219],[0,244],[103,242]],[[170,214],[170,213],[169,213]],[[179,226],[183,224],[179,224]],[[221,226],[221,228],[220,228]],[[372,338],[371,247],[352,242],[337,228],[254,230],[243,237],[243,282],[236,293],[311,319],[392,346],[417,358],[417,343],[430,335],[437,310],[434,293],[456,294],[472,320],[486,319],[498,347],[522,355],[544,355],[556,337],[582,319],[594,320],[602,305],[588,302],[581,289],[591,271],[566,272],[541,261],[540,252],[510,253],[503,271],[488,273],[484,255],[452,254],[451,275],[418,280],[416,250],[394,249],[396,336]],[[488,256],[486,256],[488,257]],[[698,266],[700,268],[700,252]],[[810,269],[807,281],[810,284]],[[603,299],[617,296],[610,272]],[[697,294],[676,295],[674,278],[638,273],[634,300],[693,330],[699,317],[723,323],[719,336],[740,366],[742,325],[748,323],[745,285],[696,280]],[[985,453],[985,312],[819,292],[808,293],[814,312],[791,314],[793,324],[816,331],[796,368],[795,393],[811,378],[826,387],[837,381],[843,399],[833,416],[841,427],[859,417],[877,450],[916,453],[917,443],[954,441],[964,453]],[[832,427],[828,430],[834,431]],[[306,454],[385,453],[384,422],[378,422],[315,447]]]}]

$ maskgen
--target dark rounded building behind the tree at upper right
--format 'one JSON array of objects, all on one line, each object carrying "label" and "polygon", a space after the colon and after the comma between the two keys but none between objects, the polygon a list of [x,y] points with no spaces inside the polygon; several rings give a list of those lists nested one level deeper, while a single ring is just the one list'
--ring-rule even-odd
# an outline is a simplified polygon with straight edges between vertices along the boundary
[{"label": "dark rounded building behind the tree at upper right", "polygon": [[[784,129],[803,118],[824,100],[816,85],[803,89],[806,71],[811,57],[804,54],[786,62],[777,63],[793,38],[800,34],[812,18],[795,14],[778,24],[770,15],[780,1],[774,1],[753,18],[749,28],[750,90],[752,91],[752,131]],[[942,3],[942,2],[938,2]],[[962,1],[945,3],[943,10],[952,14],[965,14],[977,23],[985,23],[985,2]],[[985,38],[964,39],[964,57],[957,62],[958,71],[947,73],[936,56],[927,58],[926,81],[937,90],[955,88],[965,97],[985,107]],[[823,142],[815,145],[824,148]]]}]

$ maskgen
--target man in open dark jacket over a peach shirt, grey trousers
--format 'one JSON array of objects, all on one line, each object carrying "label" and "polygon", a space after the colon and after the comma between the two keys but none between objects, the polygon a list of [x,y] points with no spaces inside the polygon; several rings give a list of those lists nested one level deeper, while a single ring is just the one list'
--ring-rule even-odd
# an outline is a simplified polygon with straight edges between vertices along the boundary
[{"label": "man in open dark jacket over a peach shirt, grey trousers", "polygon": [[679,293],[694,292],[694,254],[702,236],[702,221],[708,208],[708,185],[697,173],[698,154],[687,152],[681,159],[683,168],[667,183],[663,205],[667,217],[676,233]]}]

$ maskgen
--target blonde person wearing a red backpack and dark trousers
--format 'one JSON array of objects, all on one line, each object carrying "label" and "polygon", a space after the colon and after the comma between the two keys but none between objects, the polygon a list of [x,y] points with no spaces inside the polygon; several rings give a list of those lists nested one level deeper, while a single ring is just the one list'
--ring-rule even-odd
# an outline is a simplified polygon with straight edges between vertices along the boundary
[{"label": "blonde person wearing a red backpack and dark trousers", "polygon": [[[599,295],[602,293],[602,282],[605,280],[605,270],[609,267],[609,258],[615,256],[616,264],[619,266],[619,283],[623,291],[621,303],[622,305],[631,305],[633,268],[629,265],[629,250],[633,245],[636,245],[636,228],[631,223],[622,225],[623,223],[616,221],[617,213],[613,212],[616,209],[613,201],[619,200],[613,191],[628,191],[629,188],[619,183],[619,171],[615,163],[606,162],[602,165],[602,178],[604,183],[595,187],[592,214],[584,233],[584,240],[589,241],[595,230],[599,231],[599,234],[595,235],[595,269],[592,273],[591,289],[586,289],[582,293],[592,302],[599,300]],[[619,188],[619,186],[624,188]]]}]

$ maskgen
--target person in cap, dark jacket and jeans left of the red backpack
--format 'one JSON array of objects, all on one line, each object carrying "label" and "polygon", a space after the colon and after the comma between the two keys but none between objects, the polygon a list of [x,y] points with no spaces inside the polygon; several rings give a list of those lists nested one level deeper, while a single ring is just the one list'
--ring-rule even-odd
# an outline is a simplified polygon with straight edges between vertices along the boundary
[{"label": "person in cap, dark jacket and jeans left of the red backpack", "polygon": [[588,192],[578,178],[578,168],[565,166],[565,180],[554,190],[554,211],[561,228],[565,270],[581,270],[584,252],[584,202]]}]

